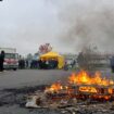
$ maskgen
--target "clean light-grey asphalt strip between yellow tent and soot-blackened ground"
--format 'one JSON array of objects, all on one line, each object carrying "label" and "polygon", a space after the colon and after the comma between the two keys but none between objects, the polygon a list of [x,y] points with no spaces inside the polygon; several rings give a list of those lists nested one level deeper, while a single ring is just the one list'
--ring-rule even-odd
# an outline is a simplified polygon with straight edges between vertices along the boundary
[{"label": "clean light-grey asphalt strip between yellow tent and soot-blackened ground", "polygon": [[0,73],[0,89],[47,85],[69,76],[66,71],[20,69]]}]

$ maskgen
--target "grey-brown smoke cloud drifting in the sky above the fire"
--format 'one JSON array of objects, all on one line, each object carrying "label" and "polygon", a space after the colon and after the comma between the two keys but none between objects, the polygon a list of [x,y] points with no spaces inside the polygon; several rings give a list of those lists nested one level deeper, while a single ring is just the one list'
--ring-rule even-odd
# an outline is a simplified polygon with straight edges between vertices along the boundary
[{"label": "grey-brown smoke cloud drifting in the sky above the fire", "polygon": [[97,46],[100,51],[113,52],[114,1],[71,0],[67,5],[63,4],[59,17],[62,24],[60,42],[76,51]]}]

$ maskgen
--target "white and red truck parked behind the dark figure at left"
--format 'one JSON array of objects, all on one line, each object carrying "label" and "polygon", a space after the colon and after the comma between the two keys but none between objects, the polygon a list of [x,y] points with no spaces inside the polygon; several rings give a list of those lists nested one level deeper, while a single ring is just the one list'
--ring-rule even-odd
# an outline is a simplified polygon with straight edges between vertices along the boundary
[{"label": "white and red truck parked behind the dark figure at left", "polygon": [[16,53],[15,48],[0,48],[0,52],[4,51],[4,69],[14,69],[18,68],[18,53]]}]

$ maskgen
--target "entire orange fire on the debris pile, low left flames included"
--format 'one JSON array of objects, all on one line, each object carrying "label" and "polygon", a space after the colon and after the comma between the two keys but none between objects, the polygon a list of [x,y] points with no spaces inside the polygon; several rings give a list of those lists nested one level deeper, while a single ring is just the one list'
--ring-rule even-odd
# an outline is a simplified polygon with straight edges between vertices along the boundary
[{"label": "entire orange fire on the debris pile, low left flames included", "polygon": [[101,76],[100,72],[96,72],[93,76],[89,75],[86,71],[81,71],[77,74],[73,73],[66,83],[62,85],[60,81],[53,84],[50,88],[47,88],[46,91],[49,93],[66,93],[76,94],[78,93],[90,93],[99,94],[94,98],[104,98],[105,100],[110,99],[109,96],[101,94],[113,94],[114,93],[114,81],[109,80],[105,77]]}]

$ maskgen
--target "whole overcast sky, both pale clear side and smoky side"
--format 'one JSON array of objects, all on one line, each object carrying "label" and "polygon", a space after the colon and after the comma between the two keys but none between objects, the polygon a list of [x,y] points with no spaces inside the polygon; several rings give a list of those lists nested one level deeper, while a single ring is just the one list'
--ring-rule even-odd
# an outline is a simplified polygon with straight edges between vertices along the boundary
[{"label": "whole overcast sky, both pale clear side and smoky side", "polygon": [[35,53],[46,42],[59,52],[78,52],[89,42],[111,51],[113,36],[114,0],[0,2],[0,47],[16,48],[21,54]]}]

